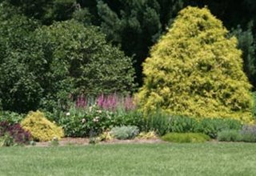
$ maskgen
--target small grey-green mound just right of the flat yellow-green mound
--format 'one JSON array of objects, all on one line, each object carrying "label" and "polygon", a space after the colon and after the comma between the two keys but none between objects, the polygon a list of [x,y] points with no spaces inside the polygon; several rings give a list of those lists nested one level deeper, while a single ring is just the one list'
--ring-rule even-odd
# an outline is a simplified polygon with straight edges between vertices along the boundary
[{"label": "small grey-green mound just right of the flat yellow-green mound", "polygon": [[222,130],[218,132],[218,141],[240,142],[242,134],[239,130]]}]

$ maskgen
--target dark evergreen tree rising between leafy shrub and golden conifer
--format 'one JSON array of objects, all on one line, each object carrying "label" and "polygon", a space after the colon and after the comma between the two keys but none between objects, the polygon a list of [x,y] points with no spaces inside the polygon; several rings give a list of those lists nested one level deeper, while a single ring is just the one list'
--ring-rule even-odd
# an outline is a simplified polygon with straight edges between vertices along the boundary
[{"label": "dark evergreen tree rising between leafy shrub and golden conifer", "polygon": [[[122,50],[134,56],[137,82],[142,82],[142,62],[174,18],[180,1],[118,0],[99,1],[98,16],[109,41],[121,44]],[[176,10],[176,11],[175,11]],[[179,9],[178,9],[179,10]]]}]

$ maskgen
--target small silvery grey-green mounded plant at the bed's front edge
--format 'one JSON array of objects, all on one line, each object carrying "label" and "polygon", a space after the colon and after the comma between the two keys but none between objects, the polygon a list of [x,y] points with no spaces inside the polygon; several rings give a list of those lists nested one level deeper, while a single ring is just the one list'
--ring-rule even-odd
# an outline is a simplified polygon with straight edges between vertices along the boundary
[{"label": "small silvery grey-green mounded plant at the bed's front edge", "polygon": [[137,126],[117,126],[110,131],[110,134],[117,139],[131,139],[135,138],[138,132]]}]

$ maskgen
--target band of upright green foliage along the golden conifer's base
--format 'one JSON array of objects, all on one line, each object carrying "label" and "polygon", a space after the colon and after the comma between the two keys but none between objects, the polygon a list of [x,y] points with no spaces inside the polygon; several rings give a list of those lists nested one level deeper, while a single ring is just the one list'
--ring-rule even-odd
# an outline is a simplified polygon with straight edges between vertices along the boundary
[{"label": "band of upright green foliage along the golden conifer's base", "polygon": [[202,133],[216,138],[222,130],[241,130],[242,122],[232,118],[203,118],[200,120],[187,117],[158,113],[148,114],[143,130],[154,130],[159,135],[175,133]]}]

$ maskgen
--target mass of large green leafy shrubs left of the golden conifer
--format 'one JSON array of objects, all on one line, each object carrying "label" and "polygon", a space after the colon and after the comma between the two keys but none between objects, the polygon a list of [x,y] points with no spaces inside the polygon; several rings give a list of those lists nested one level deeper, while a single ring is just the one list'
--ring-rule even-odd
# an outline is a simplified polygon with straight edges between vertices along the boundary
[{"label": "mass of large green leafy shrubs left of the golden conifer", "polygon": [[[53,111],[69,94],[125,94],[134,88],[130,58],[93,26],[73,21],[38,27],[30,18],[0,12],[0,97],[3,110]],[[10,8],[11,9],[11,8]],[[37,28],[37,30],[35,30]]]}]

